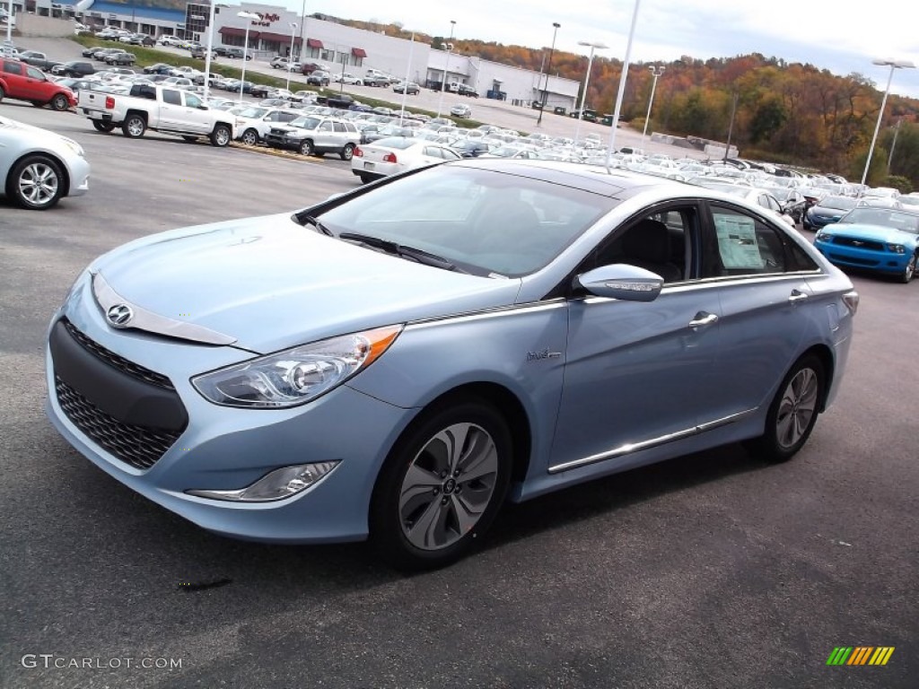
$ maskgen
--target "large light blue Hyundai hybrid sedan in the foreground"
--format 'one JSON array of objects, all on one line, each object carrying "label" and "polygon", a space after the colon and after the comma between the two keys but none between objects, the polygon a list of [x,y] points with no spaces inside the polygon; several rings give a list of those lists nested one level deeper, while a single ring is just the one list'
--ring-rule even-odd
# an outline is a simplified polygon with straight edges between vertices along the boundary
[{"label": "large light blue Hyundai hybrid sedan in the foreground", "polygon": [[478,158],[101,256],[51,320],[47,412],[213,532],[431,568],[508,499],[736,441],[793,456],[857,304],[743,200]]}]

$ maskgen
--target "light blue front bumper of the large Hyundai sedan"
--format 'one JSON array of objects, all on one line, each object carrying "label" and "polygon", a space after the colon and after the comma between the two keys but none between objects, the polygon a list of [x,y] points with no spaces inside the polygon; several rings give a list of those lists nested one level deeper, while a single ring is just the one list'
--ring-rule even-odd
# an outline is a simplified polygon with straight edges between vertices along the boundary
[{"label": "light blue front bumper of the large Hyundai sedan", "polygon": [[[81,284],[52,322],[50,342],[62,336],[59,322],[64,316],[85,335],[90,346],[97,344],[130,365],[161,374],[174,390],[170,393],[172,400],[164,407],[145,397],[144,390],[133,395],[129,388],[135,383],[126,382],[123,371],[110,370],[112,356],[100,359],[97,354],[82,351],[84,345],[67,343],[72,349],[76,347],[68,359],[59,351],[60,342],[50,344],[46,364],[51,392],[45,410],[74,448],[154,503],[221,535],[277,543],[341,542],[367,536],[373,484],[389,448],[414,415],[413,410],[393,406],[346,385],[287,410],[217,406],[201,397],[189,378],[244,361],[251,354],[233,347],[112,330],[91,299],[88,280],[81,278]],[[77,413],[88,413],[90,422],[75,415],[72,398],[59,396],[62,377],[83,396]],[[108,425],[102,435],[93,431],[92,424],[102,418],[93,406],[104,407],[101,411],[117,422],[111,424],[104,418]],[[165,408],[168,418],[164,421]],[[116,418],[119,416],[122,418]],[[119,446],[119,435],[124,434],[125,426],[170,426],[175,433],[165,439],[152,438],[151,443],[158,443],[153,447],[153,456],[148,457],[152,461],[138,462]],[[109,442],[111,435],[116,437]],[[137,447],[143,440],[142,435],[135,435],[128,442]],[[186,492],[237,490],[274,469],[332,460],[340,464],[323,480],[276,502],[232,503]]]}]

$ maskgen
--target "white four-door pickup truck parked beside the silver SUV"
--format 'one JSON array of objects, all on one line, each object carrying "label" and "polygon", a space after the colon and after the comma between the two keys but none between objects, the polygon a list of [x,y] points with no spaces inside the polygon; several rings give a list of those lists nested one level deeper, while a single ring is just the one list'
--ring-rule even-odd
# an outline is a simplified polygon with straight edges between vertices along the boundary
[{"label": "white four-door pickup truck parked beside the silver SUV", "polygon": [[130,95],[80,89],[77,112],[99,131],[120,127],[126,137],[138,139],[146,130],[177,134],[186,141],[206,136],[214,146],[233,140],[233,118],[211,110],[199,96],[159,85],[133,85]]}]

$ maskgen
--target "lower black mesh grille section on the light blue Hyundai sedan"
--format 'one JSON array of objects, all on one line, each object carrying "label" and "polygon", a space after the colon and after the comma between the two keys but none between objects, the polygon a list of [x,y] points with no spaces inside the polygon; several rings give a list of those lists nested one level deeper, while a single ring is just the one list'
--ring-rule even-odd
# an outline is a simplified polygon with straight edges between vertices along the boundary
[{"label": "lower black mesh grille section on the light blue Hyundai sedan", "polygon": [[54,389],[61,409],[77,428],[135,469],[153,467],[182,435],[181,431],[124,424],[57,376],[54,377]]}]

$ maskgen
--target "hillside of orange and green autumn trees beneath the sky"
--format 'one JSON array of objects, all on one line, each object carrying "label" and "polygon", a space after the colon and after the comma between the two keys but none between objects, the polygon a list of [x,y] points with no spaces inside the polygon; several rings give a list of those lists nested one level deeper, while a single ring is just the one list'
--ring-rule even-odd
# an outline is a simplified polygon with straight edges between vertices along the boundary
[{"label": "hillside of orange and green autumn trees beneath the sky", "polygon": [[[322,18],[358,28],[384,31],[408,39],[398,24]],[[434,48],[444,37],[415,35]],[[504,45],[481,40],[454,40],[454,51],[539,72],[547,48]],[[651,95],[652,63],[634,62],[622,101],[622,119],[641,129]],[[799,165],[860,179],[878,119],[883,92],[867,77],[838,76],[812,64],[785,62],[758,53],[700,60],[688,55],[654,62],[666,70],[657,83],[649,131],[725,141],[736,98],[732,143],[744,157]],[[584,83],[587,57],[555,51],[552,73]],[[611,113],[622,62],[595,56],[586,106]],[[580,101],[579,101],[580,102]],[[919,188],[919,100],[891,95],[869,183],[890,174]],[[898,126],[899,124],[899,126]]]}]

